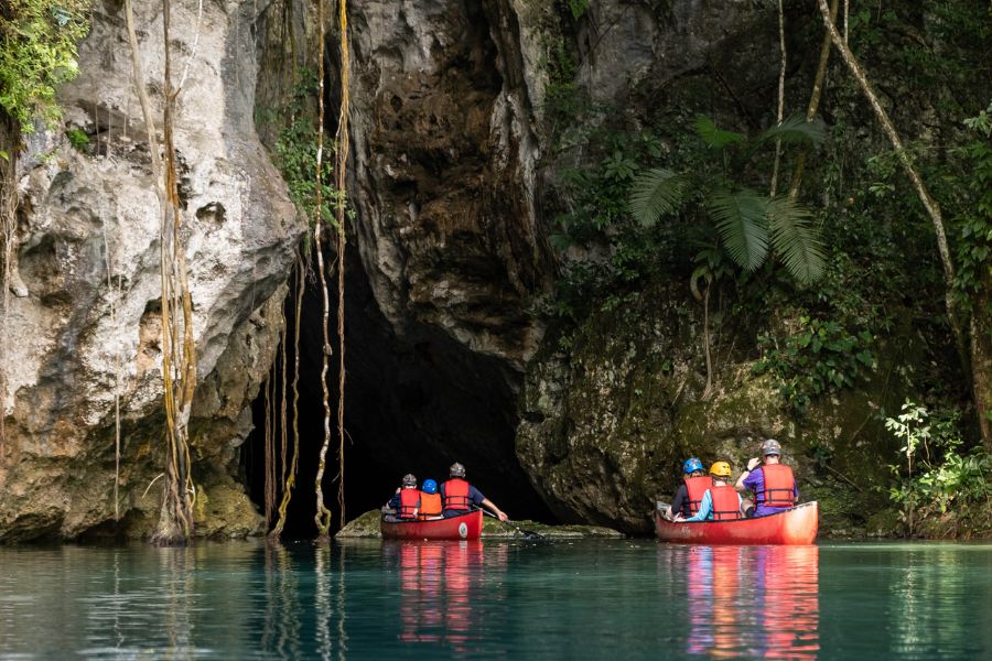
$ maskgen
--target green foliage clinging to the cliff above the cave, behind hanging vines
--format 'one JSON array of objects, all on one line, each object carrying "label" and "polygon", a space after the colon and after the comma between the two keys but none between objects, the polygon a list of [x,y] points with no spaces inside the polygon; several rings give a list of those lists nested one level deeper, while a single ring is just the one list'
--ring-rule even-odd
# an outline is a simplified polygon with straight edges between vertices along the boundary
[{"label": "green foliage clinging to the cliff above the cave, behind hanging vines", "polygon": [[[309,223],[316,218],[316,108],[315,99],[320,93],[316,74],[309,69],[299,73],[300,82],[293,89],[292,97],[284,109],[287,124],[279,131],[274,147],[274,163],[289,186],[290,198]],[[330,137],[324,138],[322,159],[322,202],[321,217],[331,226],[336,226],[334,209],[341,195],[333,182],[334,143]]]}]

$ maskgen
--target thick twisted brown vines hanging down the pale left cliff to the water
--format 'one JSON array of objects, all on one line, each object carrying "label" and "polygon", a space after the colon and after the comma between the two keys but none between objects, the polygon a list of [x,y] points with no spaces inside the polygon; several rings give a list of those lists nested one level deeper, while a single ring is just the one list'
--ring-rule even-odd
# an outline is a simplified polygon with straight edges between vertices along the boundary
[{"label": "thick twisted brown vines hanging down the pale left cliff to the water", "polygon": [[[188,423],[196,387],[196,349],[193,342],[193,300],[190,295],[185,249],[180,237],[179,182],[173,134],[175,104],[181,87],[172,86],[170,56],[170,0],[162,2],[164,43],[164,163],[159,155],[155,126],[144,83],[144,71],[134,32],[131,0],[125,0],[128,41],[134,69],[134,87],[141,104],[148,132],[152,177],[159,198],[160,271],[162,281],[162,383],[165,410],[165,484],[158,528],[152,535],[155,545],[186,543],[193,533],[195,489],[191,475]],[[177,315],[181,315],[177,316]]]}]

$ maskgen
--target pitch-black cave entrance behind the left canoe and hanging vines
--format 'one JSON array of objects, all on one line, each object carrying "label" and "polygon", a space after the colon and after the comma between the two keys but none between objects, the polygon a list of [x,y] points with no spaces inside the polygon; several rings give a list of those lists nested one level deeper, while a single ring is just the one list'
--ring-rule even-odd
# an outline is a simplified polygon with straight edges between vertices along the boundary
[{"label": "pitch-black cave entrance behind the left canoe and hanging vines", "polygon": [[[531,487],[514,451],[516,389],[500,361],[471,353],[444,333],[405,329],[399,337],[379,311],[355,249],[349,245],[345,300],[347,382],[345,386],[345,513],[348,520],[382,506],[407,473],[419,480],[446,477],[459,460],[468,479],[515,519],[551,521],[551,513]],[[325,254],[325,263],[333,256]],[[283,535],[315,534],[314,483],[324,440],[322,367],[322,293],[313,269],[303,279],[300,316],[299,436],[296,484],[287,512]],[[292,460],[292,367],[298,274],[291,278],[285,302],[287,332],[287,462]],[[330,284],[328,284],[330,286]],[[332,305],[336,300],[332,292]],[[326,377],[331,402],[331,446],[323,479],[324,502],[334,511],[333,530],[341,527],[337,508],[337,338],[332,308],[331,357]],[[251,500],[265,511],[266,430],[276,430],[276,507],[282,485],[282,351],[252,404],[255,431],[241,447],[241,467]],[[274,387],[272,386],[274,383]],[[267,395],[268,389],[268,395]],[[269,423],[266,410],[269,410]],[[271,432],[270,432],[271,433]],[[274,524],[278,512],[273,514]]]}]

